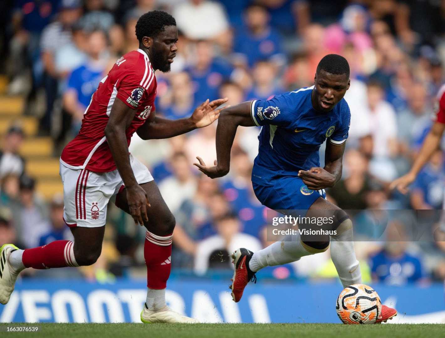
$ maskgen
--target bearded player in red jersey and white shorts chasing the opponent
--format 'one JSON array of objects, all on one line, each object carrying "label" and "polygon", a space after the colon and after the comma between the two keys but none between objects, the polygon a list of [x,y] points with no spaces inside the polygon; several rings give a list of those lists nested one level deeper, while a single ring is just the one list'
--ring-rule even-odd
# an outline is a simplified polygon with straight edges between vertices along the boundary
[{"label": "bearded player in red jersey and white shorts chasing the opponent", "polygon": [[[227,99],[206,100],[190,118],[167,120],[155,116],[155,70],[170,71],[177,51],[178,30],[172,16],[162,11],[142,15],[136,24],[139,48],[113,65],[85,110],[79,134],[65,147],[60,159],[64,185],[64,220],[74,242],[55,241],[20,250],[5,244],[0,251],[0,302],[6,304],[21,270],[91,265],[101,254],[107,203],[147,229],[144,257],[147,299],[142,322],[196,322],[166,306],[166,281],[175,219],[148,169],[129,154],[131,136],[166,139],[218,118],[216,109]],[[150,149],[147,149],[150,151]]]}]

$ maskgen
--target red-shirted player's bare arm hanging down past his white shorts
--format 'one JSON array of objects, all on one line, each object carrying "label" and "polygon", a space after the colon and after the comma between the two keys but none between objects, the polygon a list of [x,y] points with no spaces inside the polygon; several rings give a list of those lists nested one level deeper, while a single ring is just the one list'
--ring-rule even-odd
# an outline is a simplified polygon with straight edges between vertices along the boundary
[{"label": "red-shirted player's bare arm hanging down past his white shorts", "polygon": [[130,126],[133,118],[134,109],[117,98],[105,127],[105,137],[117,170],[125,184],[130,214],[136,224],[144,225],[143,221],[148,221],[147,207],[150,207],[150,203],[146,191],[138,184],[131,169],[125,135],[125,130]]}]

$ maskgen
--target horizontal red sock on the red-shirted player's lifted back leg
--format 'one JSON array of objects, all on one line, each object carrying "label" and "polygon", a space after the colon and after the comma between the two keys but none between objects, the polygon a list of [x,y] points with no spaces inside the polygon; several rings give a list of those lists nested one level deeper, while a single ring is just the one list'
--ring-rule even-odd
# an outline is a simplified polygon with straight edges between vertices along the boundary
[{"label": "horizontal red sock on the red-shirted player's lifted back leg", "polygon": [[43,247],[25,249],[22,262],[24,266],[34,269],[79,266],[74,258],[74,243],[71,241],[54,241]]}]

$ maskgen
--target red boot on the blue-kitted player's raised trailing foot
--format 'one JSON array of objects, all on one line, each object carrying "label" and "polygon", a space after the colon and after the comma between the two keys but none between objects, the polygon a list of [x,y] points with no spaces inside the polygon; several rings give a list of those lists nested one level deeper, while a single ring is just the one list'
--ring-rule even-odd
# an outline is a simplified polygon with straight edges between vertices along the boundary
[{"label": "red boot on the blue-kitted player's raised trailing foot", "polygon": [[232,285],[229,288],[232,289],[234,302],[239,302],[248,282],[256,283],[255,272],[249,268],[252,256],[253,252],[244,248],[238,249],[231,255],[232,263],[235,264],[235,271],[233,273]]}]

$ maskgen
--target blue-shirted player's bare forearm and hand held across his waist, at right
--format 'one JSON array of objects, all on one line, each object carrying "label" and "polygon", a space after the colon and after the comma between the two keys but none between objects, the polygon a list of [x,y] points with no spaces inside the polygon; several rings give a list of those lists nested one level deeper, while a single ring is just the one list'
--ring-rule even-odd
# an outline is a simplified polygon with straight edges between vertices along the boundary
[{"label": "blue-shirted player's bare forearm and hand held across his waist, at right", "polygon": [[340,145],[326,142],[324,168],[313,167],[310,170],[300,170],[298,177],[303,179],[303,183],[312,190],[333,187],[341,178],[345,145],[346,142]]}]

